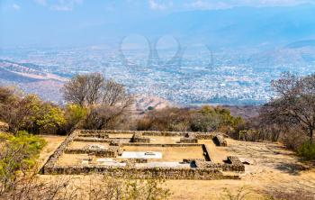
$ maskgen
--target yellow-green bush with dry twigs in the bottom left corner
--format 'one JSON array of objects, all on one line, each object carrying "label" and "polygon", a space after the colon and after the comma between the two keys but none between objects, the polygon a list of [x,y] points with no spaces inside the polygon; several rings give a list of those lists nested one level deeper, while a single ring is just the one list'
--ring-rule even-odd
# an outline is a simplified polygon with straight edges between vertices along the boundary
[{"label": "yellow-green bush with dry twigs in the bottom left corner", "polygon": [[36,159],[44,145],[45,141],[26,133],[4,136],[0,151],[0,199],[76,199],[75,192],[67,190],[69,179],[49,182],[38,179]]}]

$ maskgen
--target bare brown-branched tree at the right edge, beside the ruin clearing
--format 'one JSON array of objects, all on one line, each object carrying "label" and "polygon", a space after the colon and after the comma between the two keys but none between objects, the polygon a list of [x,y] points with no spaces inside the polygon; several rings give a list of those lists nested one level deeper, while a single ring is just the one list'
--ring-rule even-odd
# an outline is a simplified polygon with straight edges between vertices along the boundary
[{"label": "bare brown-branched tree at the right edge, beside the ruin clearing", "polygon": [[315,74],[296,77],[285,73],[272,82],[277,97],[262,107],[265,124],[299,128],[313,141],[315,129]]}]

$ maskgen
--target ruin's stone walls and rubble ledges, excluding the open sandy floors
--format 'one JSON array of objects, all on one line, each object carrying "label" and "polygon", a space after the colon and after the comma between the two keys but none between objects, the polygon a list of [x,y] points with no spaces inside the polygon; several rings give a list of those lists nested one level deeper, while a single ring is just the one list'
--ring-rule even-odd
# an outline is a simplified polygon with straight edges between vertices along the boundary
[{"label": "ruin's stone walls and rubble ledges, excluding the open sandy floors", "polygon": [[[132,134],[132,138],[117,139],[109,137],[110,134]],[[173,144],[150,144],[149,137],[144,136],[164,136],[180,137],[179,143]],[[207,144],[198,143],[198,140],[213,140],[218,146],[227,146],[227,141],[223,134],[204,132],[132,132],[132,131],[92,131],[76,130],[67,136],[58,149],[49,157],[46,164],[40,169],[42,174],[87,174],[104,173],[112,177],[134,176],[136,178],[162,177],[166,179],[221,179],[239,178],[238,175],[225,175],[224,171],[243,172],[245,167],[237,158],[229,156],[225,162],[214,163],[211,160],[211,150]],[[73,141],[107,142],[105,147],[99,144],[86,145],[81,149],[68,148]],[[120,159],[113,160],[121,156],[123,146],[159,146],[159,147],[190,147],[200,146],[204,159],[183,159],[180,163],[182,168],[177,167],[143,167],[148,163],[148,159]],[[63,154],[87,154],[88,159],[82,159],[82,165],[60,166],[58,158]],[[108,159],[97,159],[103,157]],[[112,166],[101,165],[103,162],[111,162]],[[141,166],[141,167],[140,167]]]}]

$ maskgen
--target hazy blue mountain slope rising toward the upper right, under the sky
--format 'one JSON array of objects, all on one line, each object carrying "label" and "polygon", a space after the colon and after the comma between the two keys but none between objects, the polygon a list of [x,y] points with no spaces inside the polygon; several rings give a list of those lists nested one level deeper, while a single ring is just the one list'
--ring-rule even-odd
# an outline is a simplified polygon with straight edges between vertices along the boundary
[{"label": "hazy blue mountain slope rising toward the upper right, under the sky", "polygon": [[116,33],[139,32],[148,38],[173,35],[181,41],[213,48],[269,48],[315,39],[314,11],[315,5],[187,11],[124,24]]}]

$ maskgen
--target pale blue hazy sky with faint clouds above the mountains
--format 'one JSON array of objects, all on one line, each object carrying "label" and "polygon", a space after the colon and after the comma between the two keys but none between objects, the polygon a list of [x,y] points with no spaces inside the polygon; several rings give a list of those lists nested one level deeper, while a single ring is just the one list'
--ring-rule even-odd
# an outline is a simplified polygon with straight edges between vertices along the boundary
[{"label": "pale blue hazy sky with faint clouds above the mountains", "polygon": [[[174,12],[306,3],[315,0],[0,0],[0,46],[106,43],[107,32]],[[103,37],[93,38],[100,26]]]}]

